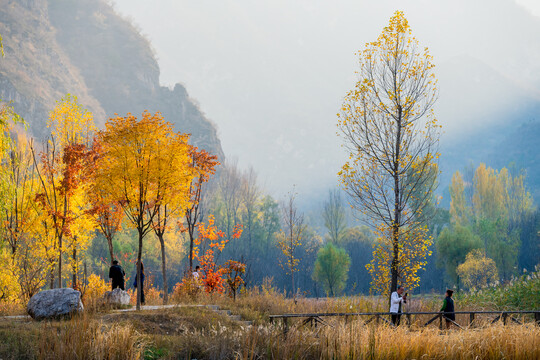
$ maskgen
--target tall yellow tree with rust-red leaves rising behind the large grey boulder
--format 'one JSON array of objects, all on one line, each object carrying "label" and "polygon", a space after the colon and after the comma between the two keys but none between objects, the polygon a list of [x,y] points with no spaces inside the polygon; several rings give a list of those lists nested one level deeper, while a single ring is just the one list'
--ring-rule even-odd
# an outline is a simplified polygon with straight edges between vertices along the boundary
[{"label": "tall yellow tree with rust-red leaves rising behind the large grey boulder", "polygon": [[[69,238],[73,254],[72,265],[77,263],[77,243],[88,239],[83,234],[78,234],[76,227],[71,228],[71,225],[75,219],[80,222],[86,211],[86,205],[81,202],[76,204],[74,198],[84,191],[88,180],[86,171],[88,165],[93,163],[89,157],[95,126],[92,113],[78,103],[76,96],[70,94],[57,102],[49,115],[47,126],[51,128],[51,136],[45,150],[40,154],[40,161],[34,155],[41,185],[36,200],[51,220],[55,248],[58,251],[58,287],[62,287],[65,238]],[[76,269],[72,266],[72,270]],[[75,271],[73,286],[77,286]]]}]

